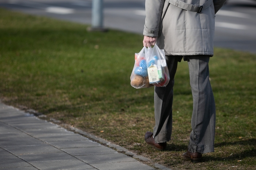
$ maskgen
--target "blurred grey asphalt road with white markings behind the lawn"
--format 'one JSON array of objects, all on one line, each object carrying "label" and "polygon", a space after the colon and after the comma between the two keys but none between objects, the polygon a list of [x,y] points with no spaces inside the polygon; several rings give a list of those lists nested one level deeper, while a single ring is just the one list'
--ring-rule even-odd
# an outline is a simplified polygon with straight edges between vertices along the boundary
[{"label": "blurred grey asphalt road with white markings behind the lawn", "polygon": [[[142,34],[145,0],[104,0],[104,27]],[[91,0],[0,0],[0,7],[91,24]],[[216,14],[214,45],[256,54],[256,0],[228,0]]]}]

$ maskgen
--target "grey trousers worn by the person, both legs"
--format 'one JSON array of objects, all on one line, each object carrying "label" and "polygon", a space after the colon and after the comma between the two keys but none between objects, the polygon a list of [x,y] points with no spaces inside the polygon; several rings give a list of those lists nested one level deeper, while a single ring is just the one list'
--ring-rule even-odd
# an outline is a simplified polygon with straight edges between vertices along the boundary
[{"label": "grey trousers worn by the person, both legs", "polygon": [[[209,58],[209,56],[204,55],[184,56],[184,60],[188,62],[193,96],[192,132],[188,144],[188,151],[192,153],[214,152],[216,113],[214,96],[209,80]],[[171,140],[174,76],[177,70],[177,63],[181,59],[182,56],[166,56],[170,82],[166,87],[155,87],[155,127],[153,137],[157,143]]]}]

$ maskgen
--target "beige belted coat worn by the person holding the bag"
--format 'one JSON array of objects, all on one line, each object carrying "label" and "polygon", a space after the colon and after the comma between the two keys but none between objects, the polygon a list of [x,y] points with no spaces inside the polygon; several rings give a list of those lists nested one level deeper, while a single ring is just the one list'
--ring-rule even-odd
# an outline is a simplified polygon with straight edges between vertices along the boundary
[{"label": "beige belted coat worn by the person holding the bag", "polygon": [[[201,6],[207,0],[181,1]],[[226,0],[210,1],[213,3],[198,13],[169,4],[169,0],[146,0],[143,35],[158,37],[157,45],[166,55],[213,56],[215,14]]]}]

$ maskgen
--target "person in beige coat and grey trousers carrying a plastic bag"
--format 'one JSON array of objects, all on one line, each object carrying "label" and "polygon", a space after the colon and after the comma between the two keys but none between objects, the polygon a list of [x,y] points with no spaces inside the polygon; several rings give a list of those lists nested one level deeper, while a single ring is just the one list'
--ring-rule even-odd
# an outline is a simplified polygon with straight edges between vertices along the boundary
[{"label": "person in beige coat and grey trousers carrying a plastic bag", "polygon": [[158,150],[171,140],[174,75],[177,63],[187,61],[193,96],[192,132],[183,156],[200,162],[214,152],[215,101],[209,81],[209,59],[214,55],[215,14],[226,0],[146,0],[144,46],[165,49],[170,82],[155,87],[155,127],[145,141]]}]

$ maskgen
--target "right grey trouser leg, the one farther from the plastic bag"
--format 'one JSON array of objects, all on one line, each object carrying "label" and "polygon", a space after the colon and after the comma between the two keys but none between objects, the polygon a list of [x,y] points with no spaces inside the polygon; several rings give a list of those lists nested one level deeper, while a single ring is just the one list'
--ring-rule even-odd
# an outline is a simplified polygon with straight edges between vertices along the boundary
[{"label": "right grey trouser leg, the one farther from the plastic bag", "polygon": [[209,56],[186,56],[193,96],[192,132],[188,151],[214,151],[215,101],[209,80]]}]

